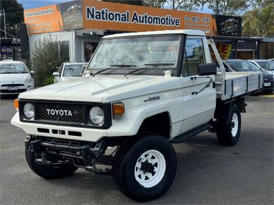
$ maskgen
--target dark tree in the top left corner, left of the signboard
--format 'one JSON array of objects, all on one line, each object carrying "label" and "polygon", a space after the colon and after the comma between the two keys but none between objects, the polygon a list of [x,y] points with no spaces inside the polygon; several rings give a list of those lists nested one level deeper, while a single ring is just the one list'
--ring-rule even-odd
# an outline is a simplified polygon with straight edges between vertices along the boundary
[{"label": "dark tree in the top left corner, left of the signboard", "polygon": [[[24,9],[21,3],[16,0],[0,1],[0,10],[5,9],[5,27],[6,31],[12,36],[15,36],[16,23],[23,22]],[[1,15],[1,29],[4,28],[3,14]],[[5,33],[1,31],[1,37],[5,36]],[[7,36],[8,37],[8,36]],[[11,36],[9,36],[11,38]]]}]

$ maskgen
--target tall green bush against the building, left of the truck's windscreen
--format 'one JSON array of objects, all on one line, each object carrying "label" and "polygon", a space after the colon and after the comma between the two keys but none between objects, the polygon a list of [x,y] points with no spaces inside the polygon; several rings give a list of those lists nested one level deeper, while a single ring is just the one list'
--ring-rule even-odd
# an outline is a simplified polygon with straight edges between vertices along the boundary
[{"label": "tall green bush against the building, left of the truck's windscreen", "polygon": [[50,38],[41,38],[34,45],[32,56],[32,69],[36,72],[34,74],[36,86],[51,82],[47,78],[51,77],[52,73],[64,62],[64,58],[60,57],[58,42]]}]

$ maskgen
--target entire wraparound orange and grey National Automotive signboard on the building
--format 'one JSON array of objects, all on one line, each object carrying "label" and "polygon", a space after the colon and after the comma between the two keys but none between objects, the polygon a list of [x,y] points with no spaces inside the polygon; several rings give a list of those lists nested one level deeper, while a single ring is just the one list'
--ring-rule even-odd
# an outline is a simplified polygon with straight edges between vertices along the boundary
[{"label": "entire wraparound orange and grey National Automotive signboard on the building", "polygon": [[[114,31],[198,29],[210,36],[217,33],[216,20],[211,14],[104,1],[70,1],[25,10],[24,16],[29,34],[75,28]],[[63,23],[62,19],[67,22]]]}]

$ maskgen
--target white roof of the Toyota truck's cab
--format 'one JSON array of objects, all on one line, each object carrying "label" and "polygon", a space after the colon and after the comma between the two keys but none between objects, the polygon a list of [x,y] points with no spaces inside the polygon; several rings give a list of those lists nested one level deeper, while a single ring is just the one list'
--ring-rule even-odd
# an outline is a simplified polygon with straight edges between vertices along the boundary
[{"label": "white roof of the Toyota truck's cab", "polygon": [[177,30],[164,30],[164,31],[134,32],[134,33],[116,33],[113,35],[104,36],[103,39],[128,37],[128,36],[161,35],[161,34],[186,34],[191,36],[205,36],[205,33],[203,33],[203,31],[200,31],[200,30],[177,29]]}]

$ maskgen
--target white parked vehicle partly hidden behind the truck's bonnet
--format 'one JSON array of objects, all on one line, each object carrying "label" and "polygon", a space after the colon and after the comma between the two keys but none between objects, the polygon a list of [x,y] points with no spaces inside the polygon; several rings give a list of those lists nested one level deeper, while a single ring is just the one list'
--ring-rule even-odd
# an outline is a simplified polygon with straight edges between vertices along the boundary
[{"label": "white parked vehicle partly hidden behind the truck's bonnet", "polygon": [[58,69],[58,72],[53,72],[54,83],[60,83],[68,79],[74,79],[82,76],[88,62],[79,63],[62,63]]}]

